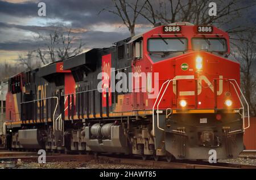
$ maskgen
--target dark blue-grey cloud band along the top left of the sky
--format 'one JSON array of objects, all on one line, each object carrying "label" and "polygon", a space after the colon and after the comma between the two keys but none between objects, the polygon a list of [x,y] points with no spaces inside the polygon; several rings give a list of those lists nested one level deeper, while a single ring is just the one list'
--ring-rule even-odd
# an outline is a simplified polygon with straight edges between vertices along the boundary
[{"label": "dark blue-grey cloud band along the top left of the sky", "polygon": [[[86,27],[98,23],[122,23],[115,15],[102,11],[103,8],[111,7],[111,0],[61,0],[50,1],[45,0],[46,17],[42,18],[58,18],[72,23],[72,27]],[[2,14],[16,17],[36,17],[38,18],[38,5],[36,2],[10,3],[0,1],[0,12]]]}]

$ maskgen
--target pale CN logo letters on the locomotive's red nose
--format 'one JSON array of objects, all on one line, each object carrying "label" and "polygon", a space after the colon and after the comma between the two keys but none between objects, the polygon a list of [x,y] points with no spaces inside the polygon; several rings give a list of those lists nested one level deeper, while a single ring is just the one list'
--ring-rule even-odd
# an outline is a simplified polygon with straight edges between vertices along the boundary
[{"label": "pale CN logo letters on the locomotive's red nose", "polygon": [[[184,75],[184,76],[175,76],[174,77],[175,80],[178,79],[195,79],[194,75]],[[219,80],[218,80],[218,90],[217,90],[217,95],[221,95],[223,92],[223,76],[219,76]],[[202,82],[207,83],[208,88],[210,88],[210,90],[212,92],[214,92],[214,87],[213,84],[210,82],[210,80],[202,75],[199,76],[199,78],[197,79],[197,95],[200,95],[202,92]],[[174,94],[176,95],[176,83],[174,81],[174,85],[173,85],[173,91]],[[195,91],[179,91],[179,96],[194,96],[195,95]]]}]

